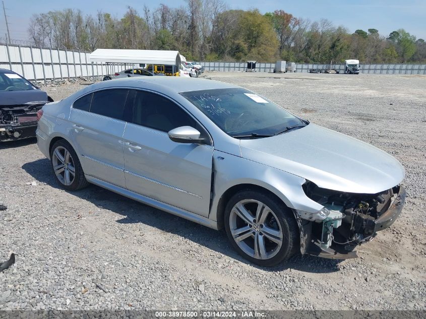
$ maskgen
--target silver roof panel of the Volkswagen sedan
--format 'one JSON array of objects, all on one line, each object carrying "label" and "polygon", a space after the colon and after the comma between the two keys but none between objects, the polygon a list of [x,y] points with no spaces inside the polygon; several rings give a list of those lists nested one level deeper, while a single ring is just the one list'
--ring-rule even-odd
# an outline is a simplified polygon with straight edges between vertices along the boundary
[{"label": "silver roof panel of the Volkswagen sedan", "polygon": [[161,89],[163,92],[169,93],[239,88],[239,86],[236,85],[214,80],[181,77],[132,77],[103,81],[91,85],[90,87],[92,91],[108,87],[134,87],[140,89],[150,89],[153,88],[153,86]]}]

